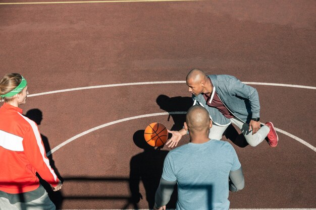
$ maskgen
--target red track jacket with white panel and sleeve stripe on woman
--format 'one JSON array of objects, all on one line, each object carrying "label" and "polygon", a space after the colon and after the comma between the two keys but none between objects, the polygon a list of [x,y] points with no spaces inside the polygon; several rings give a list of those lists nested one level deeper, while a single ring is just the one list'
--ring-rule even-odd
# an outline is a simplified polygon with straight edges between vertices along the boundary
[{"label": "red track jacket with white panel and sleeve stripe on woman", "polygon": [[38,188],[38,173],[52,186],[59,179],[50,167],[36,123],[22,109],[7,103],[0,108],[0,190],[22,193]]}]

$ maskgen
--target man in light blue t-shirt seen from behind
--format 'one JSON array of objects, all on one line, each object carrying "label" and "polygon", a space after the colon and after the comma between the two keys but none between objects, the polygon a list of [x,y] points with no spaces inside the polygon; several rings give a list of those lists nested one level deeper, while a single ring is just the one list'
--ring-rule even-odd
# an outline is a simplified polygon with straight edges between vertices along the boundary
[{"label": "man in light blue t-shirt seen from behind", "polygon": [[178,184],[177,210],[229,209],[229,190],[244,187],[244,177],[234,148],[224,141],[208,138],[212,127],[205,108],[192,106],[184,128],[190,143],[169,152],[156,191],[154,209],[166,209]]}]

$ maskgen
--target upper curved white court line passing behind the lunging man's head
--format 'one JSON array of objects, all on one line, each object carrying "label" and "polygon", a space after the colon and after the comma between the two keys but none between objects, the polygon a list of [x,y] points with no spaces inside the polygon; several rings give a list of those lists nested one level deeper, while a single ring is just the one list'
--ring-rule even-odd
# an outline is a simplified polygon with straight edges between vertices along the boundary
[{"label": "upper curved white court line passing behind the lunging man's head", "polygon": [[[81,87],[81,88],[70,88],[70,89],[64,89],[64,90],[35,93],[35,94],[30,94],[27,97],[42,96],[42,95],[47,95],[47,94],[63,93],[63,92],[69,92],[69,91],[95,89],[95,88],[110,88],[110,87],[131,86],[131,85],[176,84],[176,83],[186,83],[186,82],[185,81],[159,81],[159,82],[139,82],[139,83],[122,83],[122,84],[112,84],[112,85],[87,86],[87,87]],[[243,82],[243,83],[247,84],[247,85],[281,86],[281,87],[305,88],[305,89],[316,90],[316,87],[303,86],[303,85],[289,85],[289,84],[277,84],[277,83],[256,83],[256,82]]]}]

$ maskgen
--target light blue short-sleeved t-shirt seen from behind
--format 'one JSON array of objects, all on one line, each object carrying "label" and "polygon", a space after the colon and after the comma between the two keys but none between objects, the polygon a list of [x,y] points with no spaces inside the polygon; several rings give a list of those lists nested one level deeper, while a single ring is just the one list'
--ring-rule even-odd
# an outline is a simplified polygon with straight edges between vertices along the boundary
[{"label": "light blue short-sleeved t-shirt seen from behind", "polygon": [[229,209],[229,172],[241,167],[228,142],[210,139],[170,151],[162,178],[178,184],[177,210]]}]

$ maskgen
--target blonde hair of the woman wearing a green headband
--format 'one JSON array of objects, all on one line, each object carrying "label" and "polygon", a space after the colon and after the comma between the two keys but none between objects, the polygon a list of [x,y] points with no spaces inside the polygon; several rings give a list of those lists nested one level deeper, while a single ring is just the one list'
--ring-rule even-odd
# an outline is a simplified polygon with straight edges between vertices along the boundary
[{"label": "blonde hair of the woman wearing a green headband", "polygon": [[[22,81],[22,76],[18,73],[6,74],[0,81],[0,95],[5,95],[14,90]],[[2,97],[0,97],[0,100]],[[5,102],[11,101],[13,97],[4,97]]]}]

